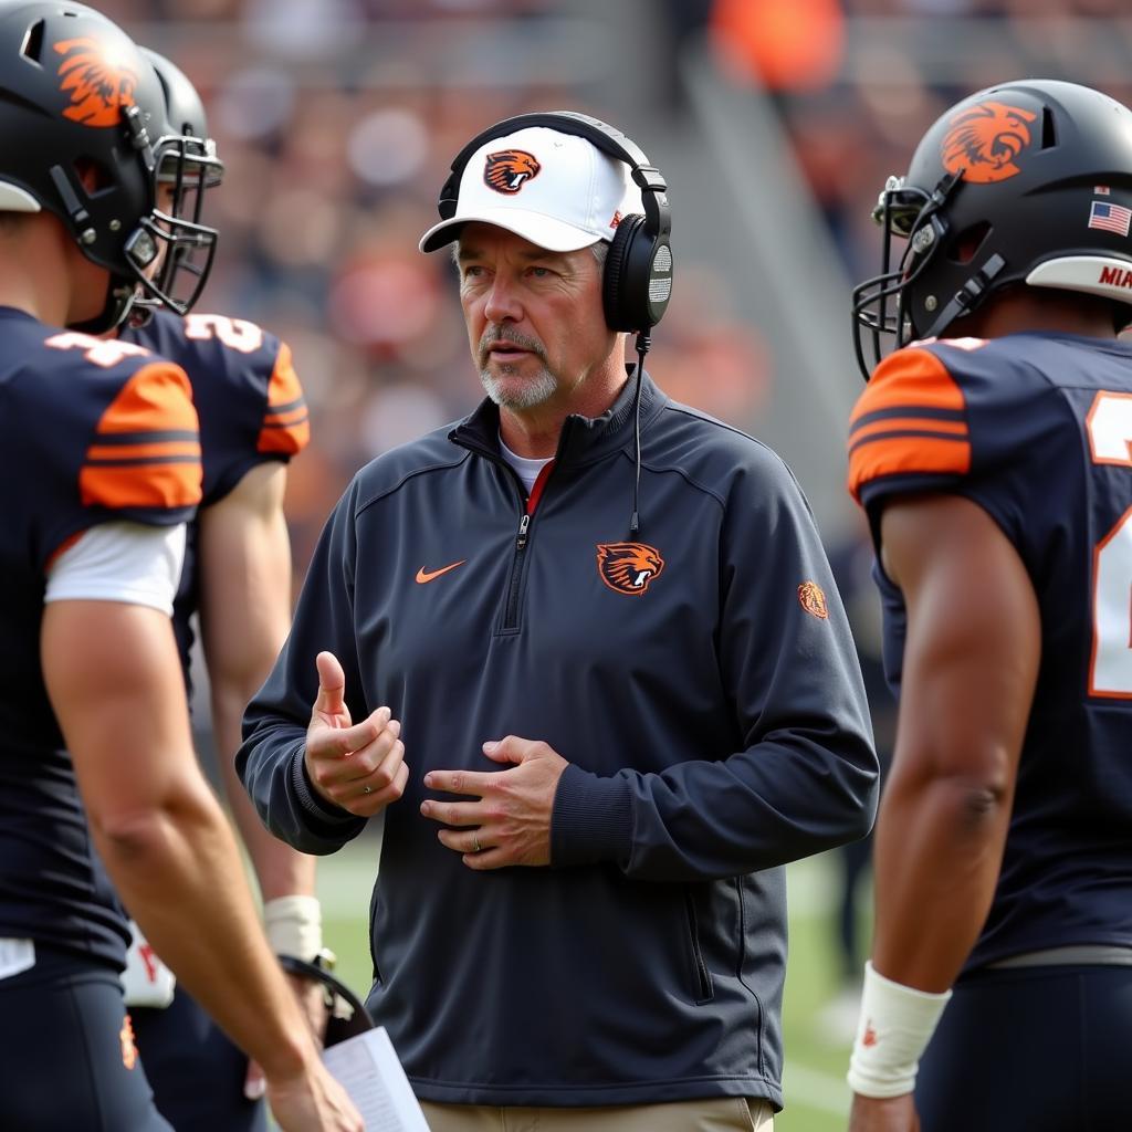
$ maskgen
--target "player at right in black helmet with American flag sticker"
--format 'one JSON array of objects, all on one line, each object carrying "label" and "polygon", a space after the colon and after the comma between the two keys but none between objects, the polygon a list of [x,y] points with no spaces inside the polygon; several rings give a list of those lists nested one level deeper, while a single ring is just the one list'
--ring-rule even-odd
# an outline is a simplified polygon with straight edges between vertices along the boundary
[{"label": "player at right in black helmet with American flag sticker", "polygon": [[875,215],[849,487],[900,719],[850,1127],[1126,1127],[1132,112],[980,91]]}]

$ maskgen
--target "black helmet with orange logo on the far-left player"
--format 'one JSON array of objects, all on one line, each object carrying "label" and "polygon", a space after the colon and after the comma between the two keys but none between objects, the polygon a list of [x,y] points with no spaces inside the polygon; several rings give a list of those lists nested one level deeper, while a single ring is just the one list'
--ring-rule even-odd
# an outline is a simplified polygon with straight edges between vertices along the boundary
[{"label": "black helmet with orange logo on the far-left player", "polygon": [[145,272],[162,238],[156,143],[169,132],[157,76],[115,24],[66,0],[0,5],[0,212],[53,213],[110,273],[102,312],[79,329],[115,326],[137,286],[156,293]]}]

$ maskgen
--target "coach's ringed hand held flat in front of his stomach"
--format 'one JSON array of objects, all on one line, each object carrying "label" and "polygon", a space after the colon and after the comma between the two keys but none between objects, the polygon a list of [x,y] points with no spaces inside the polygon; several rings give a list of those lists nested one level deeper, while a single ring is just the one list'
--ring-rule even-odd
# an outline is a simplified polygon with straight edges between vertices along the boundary
[{"label": "coach's ringed hand held flat in front of his stomach", "polygon": [[508,735],[484,743],[483,754],[505,771],[429,771],[424,786],[475,801],[421,803],[421,813],[456,829],[440,830],[440,843],[462,854],[469,868],[550,864],[550,815],[555,791],[569,765],[546,743]]}]

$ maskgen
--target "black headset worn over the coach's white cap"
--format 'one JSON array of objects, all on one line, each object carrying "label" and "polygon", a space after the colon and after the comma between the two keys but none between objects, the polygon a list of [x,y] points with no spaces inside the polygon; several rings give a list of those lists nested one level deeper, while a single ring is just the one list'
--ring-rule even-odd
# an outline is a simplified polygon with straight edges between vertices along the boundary
[{"label": "black headset worn over the coach's white cap", "polygon": [[[666,192],[668,185],[660,171],[637,145],[620,130],[573,110],[517,114],[478,134],[456,154],[452,172],[440,189],[437,209],[441,220],[456,214],[460,179],[464,166],[480,146],[529,126],[544,126],[559,134],[585,138],[601,153],[621,161],[632,170],[641,189],[644,215],[631,213],[617,225],[601,284],[601,305],[611,331],[636,333],[649,341],[649,332],[661,320],[672,294],[671,214]],[[648,349],[648,345],[645,346]]]}]

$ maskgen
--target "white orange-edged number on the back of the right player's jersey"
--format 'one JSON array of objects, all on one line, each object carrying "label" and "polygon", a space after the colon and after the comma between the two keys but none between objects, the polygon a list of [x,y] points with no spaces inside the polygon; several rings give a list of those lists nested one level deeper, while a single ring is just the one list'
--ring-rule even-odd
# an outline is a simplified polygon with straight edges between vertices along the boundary
[{"label": "white orange-edged number on the back of the right player's jersey", "polygon": [[[1084,427],[1095,464],[1132,468],[1132,394],[1101,389]],[[1132,506],[1092,552],[1089,695],[1132,700]]]}]

